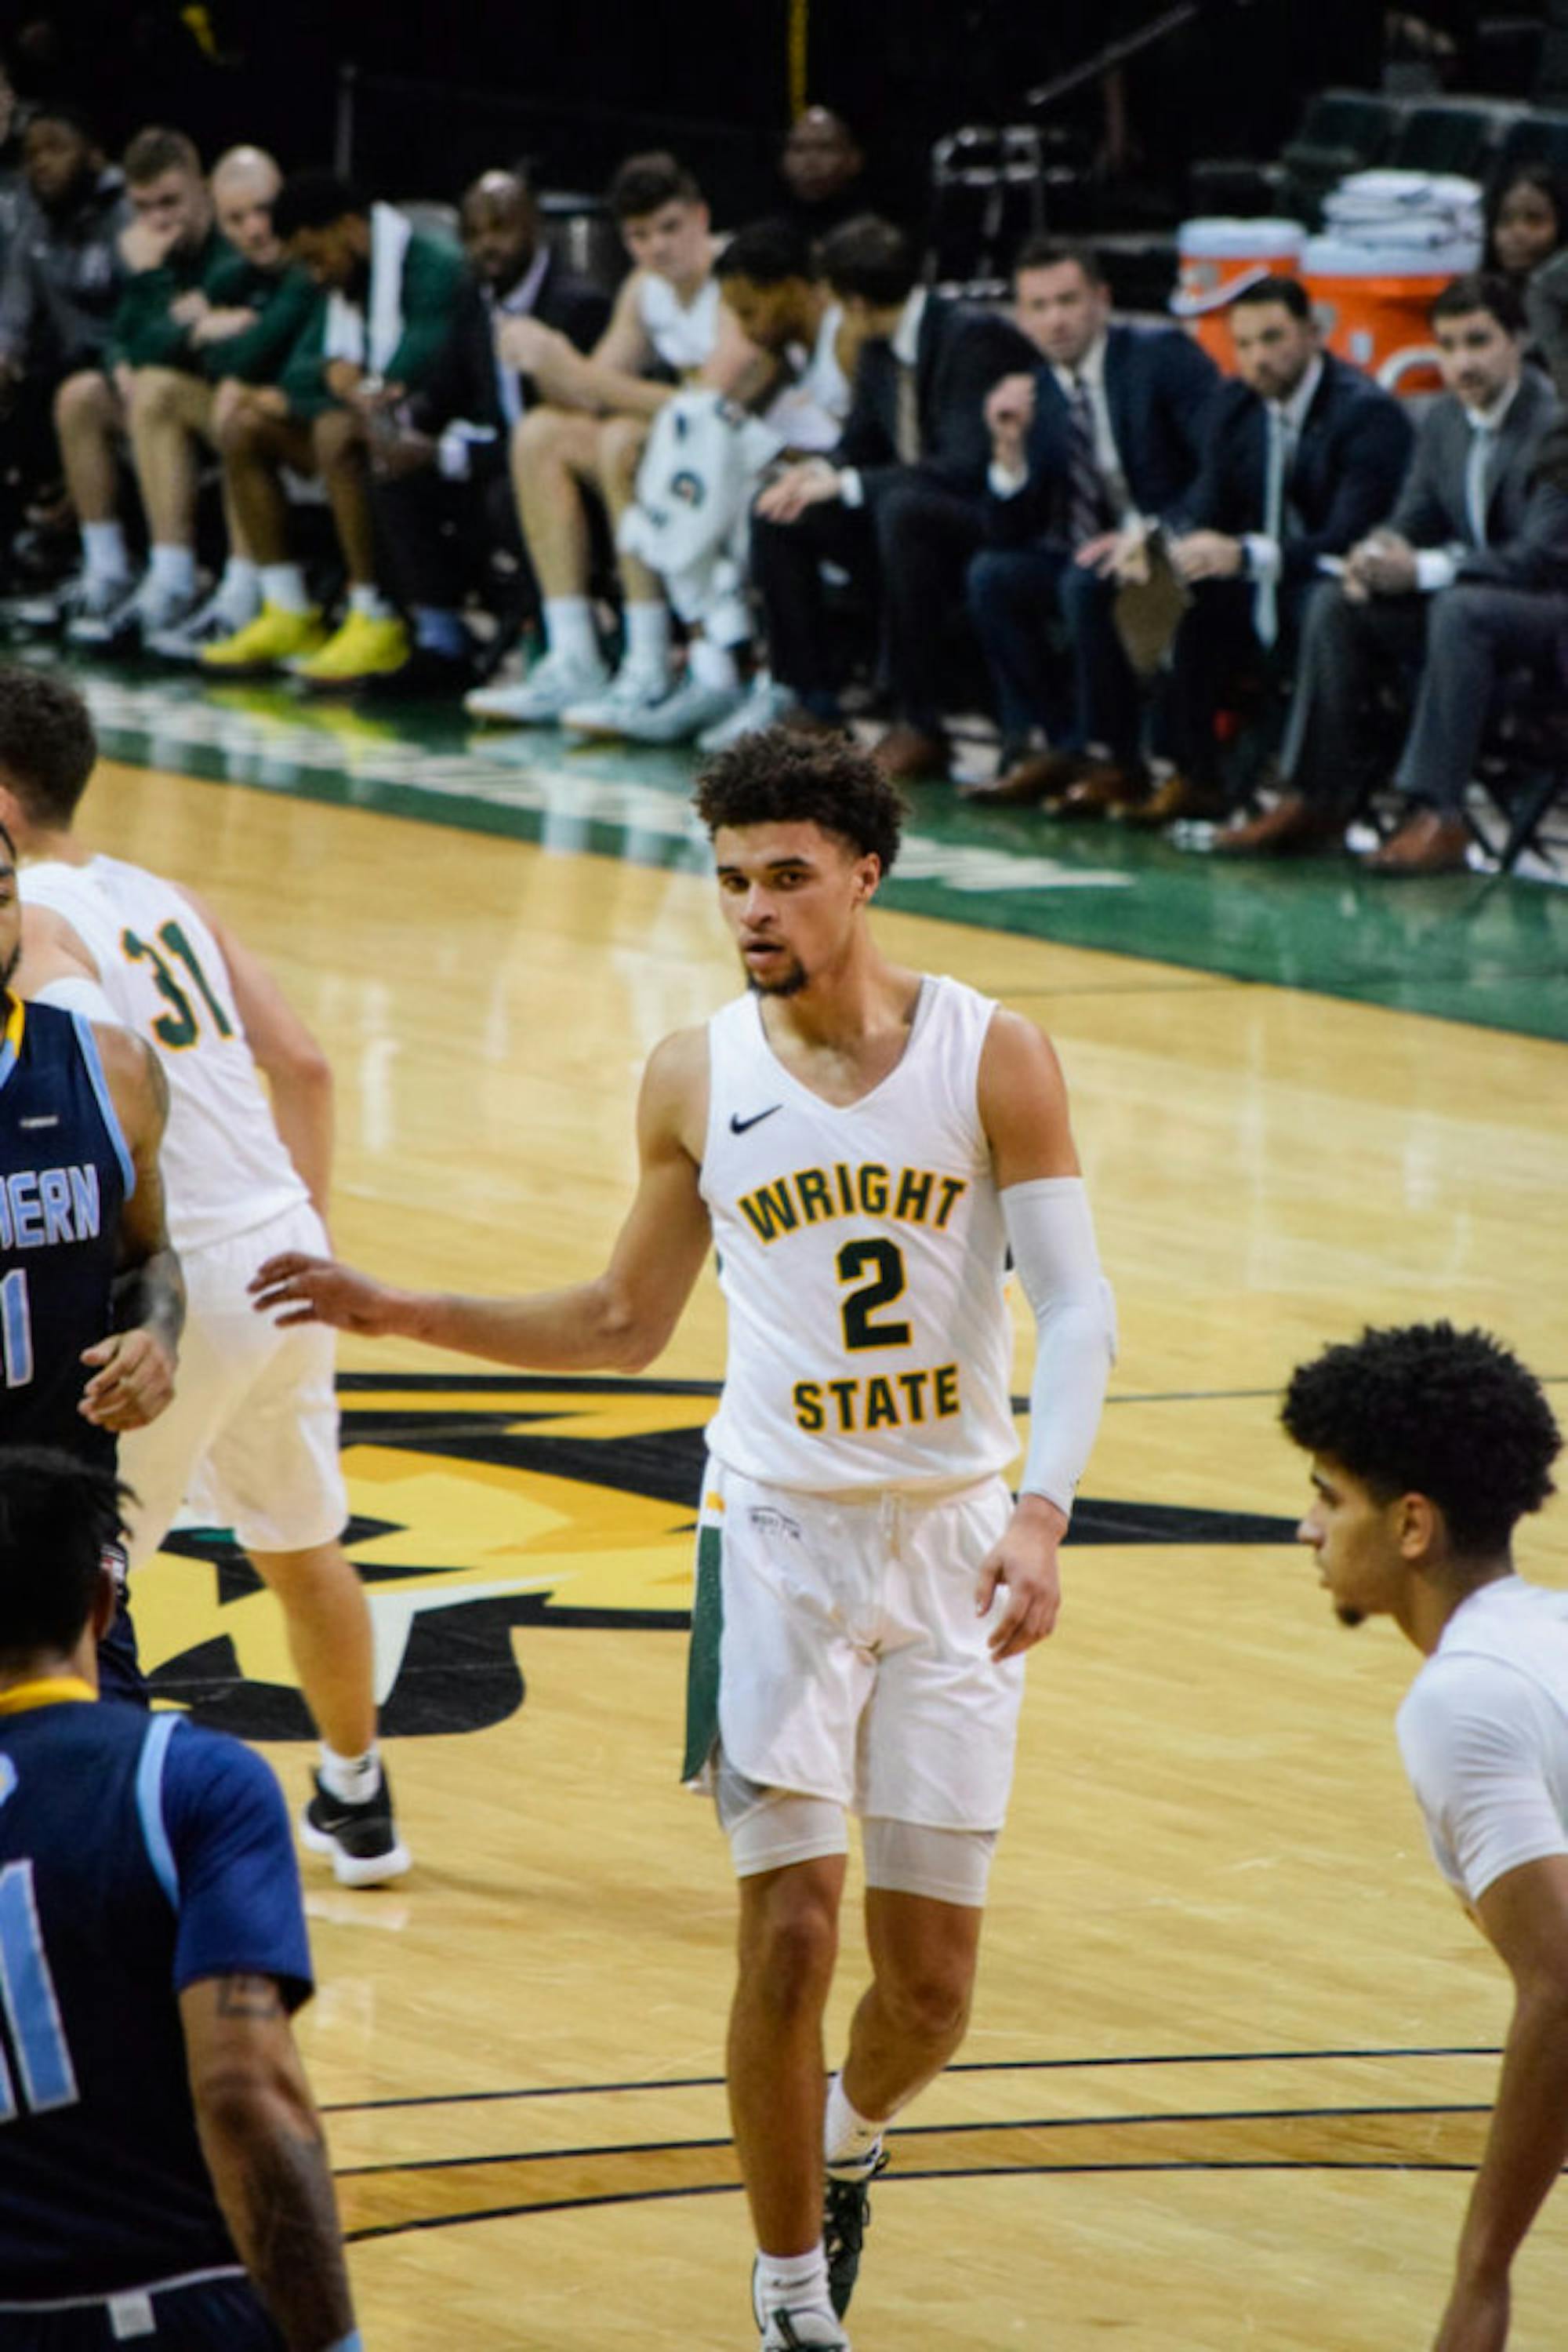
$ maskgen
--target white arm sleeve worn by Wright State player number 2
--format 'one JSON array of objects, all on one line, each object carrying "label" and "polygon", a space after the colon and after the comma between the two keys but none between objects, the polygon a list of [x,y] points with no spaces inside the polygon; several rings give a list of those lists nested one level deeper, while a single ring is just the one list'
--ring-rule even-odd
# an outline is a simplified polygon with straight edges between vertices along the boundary
[{"label": "white arm sleeve worn by Wright State player number 2", "polygon": [[1117,1362],[1117,1301],[1100,1272],[1081,1176],[1009,1185],[1001,1216],[1034,1312],[1030,1451],[1018,1491],[1044,1494],[1072,1515]]}]

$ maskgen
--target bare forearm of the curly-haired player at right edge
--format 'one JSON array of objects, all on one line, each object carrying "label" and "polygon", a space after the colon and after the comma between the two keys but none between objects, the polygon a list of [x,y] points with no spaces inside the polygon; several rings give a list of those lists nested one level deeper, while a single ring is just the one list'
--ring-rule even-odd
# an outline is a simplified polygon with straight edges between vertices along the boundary
[{"label": "bare forearm of the curly-haired player at right edge", "polygon": [[1568,2161],[1568,1985],[1519,1992],[1497,2105],[1460,2232],[1460,2279],[1507,2277]]}]

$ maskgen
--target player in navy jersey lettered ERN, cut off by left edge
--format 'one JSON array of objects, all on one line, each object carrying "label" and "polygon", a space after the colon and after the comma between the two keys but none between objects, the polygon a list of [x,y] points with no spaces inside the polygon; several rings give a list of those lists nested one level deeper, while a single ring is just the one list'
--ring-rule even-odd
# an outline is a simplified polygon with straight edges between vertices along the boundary
[{"label": "player in navy jersey lettered ERN, cut off by left edge", "polygon": [[[125,1030],[24,1004],[19,960],[16,844],[0,823],[0,1458],[47,1444],[113,1470],[118,1432],[174,1395],[183,1289],[158,1167],[167,1089]],[[103,1677],[143,1698],[115,1557]]]}]

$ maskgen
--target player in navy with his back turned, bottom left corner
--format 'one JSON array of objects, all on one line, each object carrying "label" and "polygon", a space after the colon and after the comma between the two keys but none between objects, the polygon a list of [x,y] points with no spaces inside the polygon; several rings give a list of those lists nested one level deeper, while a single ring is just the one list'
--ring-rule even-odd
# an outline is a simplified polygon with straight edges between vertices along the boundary
[{"label": "player in navy with his back turned, bottom left corner", "polygon": [[289,1820],[237,1740],[89,1703],[118,1524],[110,1470],[5,1456],[0,2343],[357,2352]]}]

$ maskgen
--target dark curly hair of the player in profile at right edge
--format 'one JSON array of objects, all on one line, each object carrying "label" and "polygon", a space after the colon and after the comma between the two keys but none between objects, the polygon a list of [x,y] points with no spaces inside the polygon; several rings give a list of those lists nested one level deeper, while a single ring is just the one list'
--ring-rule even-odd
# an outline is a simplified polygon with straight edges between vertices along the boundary
[{"label": "dark curly hair of the player in profile at right edge", "polygon": [[1380,1503],[1425,1494],[1462,1557],[1500,1552],[1554,1491],[1561,1430],[1533,1371],[1488,1331],[1450,1322],[1366,1329],[1300,1364],[1286,1435]]}]

